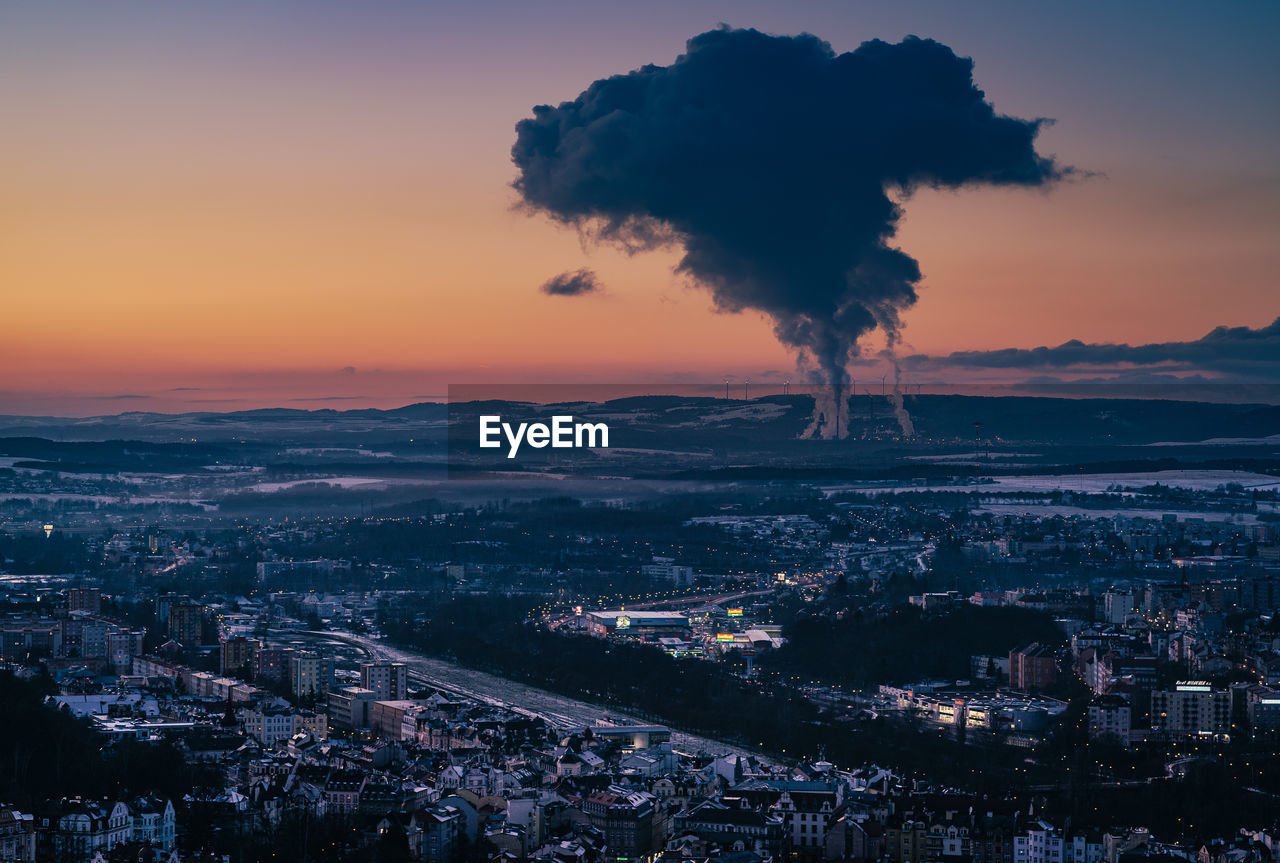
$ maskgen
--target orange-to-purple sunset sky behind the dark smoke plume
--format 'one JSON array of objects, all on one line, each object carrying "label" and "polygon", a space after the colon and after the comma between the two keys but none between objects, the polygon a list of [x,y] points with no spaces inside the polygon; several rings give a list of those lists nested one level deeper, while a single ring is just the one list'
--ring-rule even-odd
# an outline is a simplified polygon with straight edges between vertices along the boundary
[{"label": "orange-to-purple sunset sky behind the dark smoke plume", "polygon": [[[0,10],[0,414],[796,374],[678,248],[593,243],[512,188],[535,105],[721,23],[837,52],[934,38],[997,111],[1053,120],[1037,150],[1078,169],[1064,182],[901,201],[892,245],[923,273],[908,384],[1276,380],[1257,360],[1280,335],[1275,3],[52,1]],[[580,269],[598,289],[541,289]],[[1215,362],[1221,339],[1033,352],[1219,327],[1249,362]]]}]

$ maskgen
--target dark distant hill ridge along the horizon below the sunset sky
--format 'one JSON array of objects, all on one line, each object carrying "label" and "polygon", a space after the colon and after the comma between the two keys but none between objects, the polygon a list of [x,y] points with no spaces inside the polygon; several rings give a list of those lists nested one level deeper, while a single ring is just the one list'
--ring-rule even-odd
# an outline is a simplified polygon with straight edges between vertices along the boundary
[{"label": "dark distant hill ridge along the horizon below the sunset sky", "polygon": [[[1215,438],[1260,439],[1280,434],[1280,406],[1139,398],[1025,396],[906,396],[904,406],[916,443],[972,442],[974,424],[987,442],[1039,444],[1146,444]],[[485,401],[452,406],[424,402],[394,410],[294,410],[147,414],[83,419],[0,416],[0,437],[52,440],[131,439],[154,442],[275,440],[282,443],[394,442],[407,437],[443,440],[445,425],[471,424],[481,414],[604,417],[627,443],[686,448],[754,448],[795,440],[810,421],[806,394],[750,401],[643,396],[605,402],[531,405]],[[896,440],[899,424],[882,396],[854,396],[842,417],[854,438]]]}]

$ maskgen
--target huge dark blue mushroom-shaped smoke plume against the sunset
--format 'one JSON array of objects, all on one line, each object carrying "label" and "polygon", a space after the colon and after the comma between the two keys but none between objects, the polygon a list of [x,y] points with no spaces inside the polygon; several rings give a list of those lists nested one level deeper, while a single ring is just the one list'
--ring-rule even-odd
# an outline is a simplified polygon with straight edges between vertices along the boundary
[{"label": "huge dark blue mushroom-shaped smoke plume against the sunset", "polygon": [[726,311],[759,310],[842,389],[858,339],[892,346],[920,269],[893,248],[891,193],[1043,186],[1043,120],[995,113],[973,61],[931,40],[836,54],[814,36],[722,27],[667,67],[603,78],[516,125],[532,210],[678,270]]}]

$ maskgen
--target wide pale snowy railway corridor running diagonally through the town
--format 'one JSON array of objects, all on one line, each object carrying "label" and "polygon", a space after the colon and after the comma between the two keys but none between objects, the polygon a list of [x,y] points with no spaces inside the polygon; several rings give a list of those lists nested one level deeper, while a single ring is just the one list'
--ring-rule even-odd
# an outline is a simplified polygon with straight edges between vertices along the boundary
[{"label": "wide pale snowy railway corridor running diagonally through the town", "polygon": [[[383,641],[351,635],[348,633],[325,633],[311,630],[279,630],[275,635],[284,639],[307,639],[316,641],[339,641],[360,648],[370,658],[403,662],[408,667],[408,677],[415,684],[431,686],[442,691],[461,695],[472,700],[503,707],[526,716],[538,716],[557,729],[567,731],[600,725],[652,725],[650,720],[631,716],[612,707],[591,704],[576,698],[557,695],[545,689],[516,682],[465,668],[447,659],[422,656],[411,650],[390,647]],[[671,744],[677,752],[713,755],[754,755],[759,753],[733,746],[719,740],[703,738],[682,731],[671,731]]]}]

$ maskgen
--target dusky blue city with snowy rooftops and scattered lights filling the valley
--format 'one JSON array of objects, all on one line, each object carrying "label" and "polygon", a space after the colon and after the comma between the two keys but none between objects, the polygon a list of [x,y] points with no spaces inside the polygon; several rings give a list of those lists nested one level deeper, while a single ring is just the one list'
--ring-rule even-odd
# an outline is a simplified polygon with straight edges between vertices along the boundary
[{"label": "dusky blue city with snowy rooftops and scattered lights filling the valley", "polygon": [[10,457],[8,859],[1270,859],[1280,479],[973,456],[279,517]]}]

